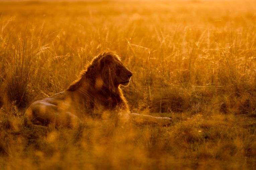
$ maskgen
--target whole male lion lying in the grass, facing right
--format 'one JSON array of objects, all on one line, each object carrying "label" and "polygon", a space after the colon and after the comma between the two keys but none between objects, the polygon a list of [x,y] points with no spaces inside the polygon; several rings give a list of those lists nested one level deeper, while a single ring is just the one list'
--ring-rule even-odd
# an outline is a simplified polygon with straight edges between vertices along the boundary
[{"label": "whole male lion lying in the grass, facing right", "polygon": [[24,123],[42,126],[54,123],[56,126],[79,127],[83,117],[101,117],[101,113],[106,110],[116,114],[115,117],[119,120],[128,118],[138,123],[161,123],[170,120],[129,112],[119,85],[128,85],[132,75],[116,53],[100,53],[67,90],[32,103],[24,114]]}]

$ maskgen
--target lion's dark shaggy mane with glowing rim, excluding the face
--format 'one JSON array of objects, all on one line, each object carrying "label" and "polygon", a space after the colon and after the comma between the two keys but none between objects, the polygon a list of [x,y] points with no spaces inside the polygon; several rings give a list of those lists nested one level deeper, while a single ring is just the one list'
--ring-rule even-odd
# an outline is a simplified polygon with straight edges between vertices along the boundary
[{"label": "lion's dark shaggy mane with glowing rim, excluding the face", "polygon": [[[115,86],[112,82],[116,75],[108,70],[108,68],[115,68],[116,62],[121,62],[121,60],[115,52],[105,51],[100,53],[93,58],[90,64],[85,66],[78,78],[68,87],[67,91],[83,89],[80,91],[85,97],[91,101],[96,99],[99,102],[98,104],[108,109],[120,108],[122,110],[129,110],[119,84]],[[104,67],[106,63],[108,63],[109,67]],[[92,103],[91,105],[94,104]]]}]

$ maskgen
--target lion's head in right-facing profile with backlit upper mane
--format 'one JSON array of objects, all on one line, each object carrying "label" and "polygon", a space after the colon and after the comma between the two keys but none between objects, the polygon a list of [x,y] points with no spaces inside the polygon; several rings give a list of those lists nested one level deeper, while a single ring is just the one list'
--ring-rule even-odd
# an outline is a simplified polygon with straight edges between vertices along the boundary
[{"label": "lion's head in right-facing profile with backlit upper mane", "polygon": [[73,82],[68,90],[75,90],[82,80],[90,81],[91,85],[100,89],[116,89],[119,85],[127,86],[133,73],[121,62],[120,57],[113,51],[100,53],[93,58],[91,63],[84,69],[79,78]]}]

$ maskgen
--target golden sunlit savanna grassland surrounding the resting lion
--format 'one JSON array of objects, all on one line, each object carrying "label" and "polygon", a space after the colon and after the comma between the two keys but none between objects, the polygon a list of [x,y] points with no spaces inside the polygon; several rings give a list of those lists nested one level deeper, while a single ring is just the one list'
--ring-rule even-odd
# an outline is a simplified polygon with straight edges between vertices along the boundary
[{"label": "golden sunlit savanna grassland surrounding the resting lion", "polygon": [[[0,169],[255,169],[256,2],[0,1]],[[23,126],[94,56],[120,55],[131,112],[165,125]]]}]

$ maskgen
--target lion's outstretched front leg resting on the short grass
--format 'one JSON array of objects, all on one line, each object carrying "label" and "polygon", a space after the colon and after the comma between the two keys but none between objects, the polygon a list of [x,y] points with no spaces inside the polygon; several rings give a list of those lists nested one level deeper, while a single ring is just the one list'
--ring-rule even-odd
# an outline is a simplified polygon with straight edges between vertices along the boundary
[{"label": "lion's outstretched front leg resting on the short grass", "polygon": [[140,115],[138,113],[130,113],[130,119],[139,124],[169,124],[172,120],[168,117],[154,117],[150,115]]}]

